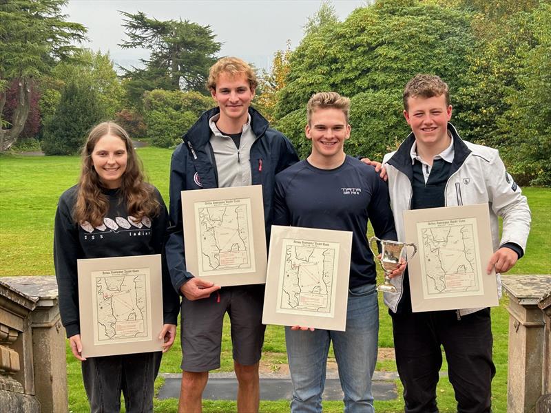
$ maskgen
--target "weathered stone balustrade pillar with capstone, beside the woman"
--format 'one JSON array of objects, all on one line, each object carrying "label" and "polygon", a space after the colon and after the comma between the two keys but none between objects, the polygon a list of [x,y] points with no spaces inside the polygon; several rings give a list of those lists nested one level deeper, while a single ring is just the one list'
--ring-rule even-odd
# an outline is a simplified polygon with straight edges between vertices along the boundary
[{"label": "weathered stone balustrade pillar with capstone, beside the woman", "polygon": [[3,277],[3,282],[37,299],[31,316],[34,386],[43,412],[67,413],[65,328],[61,325],[54,276]]}]

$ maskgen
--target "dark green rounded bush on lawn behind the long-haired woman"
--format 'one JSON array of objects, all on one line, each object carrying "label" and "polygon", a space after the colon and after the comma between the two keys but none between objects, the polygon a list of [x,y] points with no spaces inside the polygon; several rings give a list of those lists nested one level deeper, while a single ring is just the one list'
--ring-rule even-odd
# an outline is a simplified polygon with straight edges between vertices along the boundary
[{"label": "dark green rounded bush on lawn behind the long-haired woman", "polygon": [[87,132],[106,118],[98,94],[87,85],[70,82],[61,93],[56,112],[44,125],[42,150],[46,155],[71,155],[83,147]]}]

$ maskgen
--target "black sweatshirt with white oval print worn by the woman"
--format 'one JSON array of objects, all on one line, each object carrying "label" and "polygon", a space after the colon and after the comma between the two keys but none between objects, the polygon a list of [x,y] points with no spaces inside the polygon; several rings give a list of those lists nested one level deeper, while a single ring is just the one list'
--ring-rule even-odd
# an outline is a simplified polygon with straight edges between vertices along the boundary
[{"label": "black sweatshirt with white oval print worn by the woman", "polygon": [[[79,280],[76,260],[81,258],[126,257],[163,252],[168,212],[163,198],[155,189],[160,202],[158,216],[134,222],[128,216],[118,189],[105,189],[110,209],[103,224],[76,224],[73,208],[78,187],[67,189],[59,198],[54,224],[54,266],[59,293],[61,322],[67,337],[80,334]],[[163,318],[165,324],[176,324],[180,310],[179,297],[171,286],[163,257]]]}]

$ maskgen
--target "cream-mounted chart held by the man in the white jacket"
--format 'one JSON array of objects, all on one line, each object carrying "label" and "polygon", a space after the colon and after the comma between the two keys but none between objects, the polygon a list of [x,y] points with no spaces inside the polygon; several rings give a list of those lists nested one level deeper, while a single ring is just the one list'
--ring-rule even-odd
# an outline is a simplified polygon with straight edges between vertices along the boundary
[{"label": "cream-mounted chart held by the man in the white jacket", "polygon": [[488,204],[404,211],[406,242],[417,245],[408,260],[414,313],[497,306]]}]

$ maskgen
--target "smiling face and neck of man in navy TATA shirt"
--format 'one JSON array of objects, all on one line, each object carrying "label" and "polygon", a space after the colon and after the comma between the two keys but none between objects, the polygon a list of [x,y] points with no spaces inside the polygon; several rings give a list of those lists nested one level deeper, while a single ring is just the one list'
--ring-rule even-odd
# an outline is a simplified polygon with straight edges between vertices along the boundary
[{"label": "smiling face and neck of man in navy TATA shirt", "polygon": [[309,160],[314,166],[337,167],[344,160],[344,141],[350,137],[350,125],[341,109],[315,109],[306,125],[306,138],[312,140]]}]

